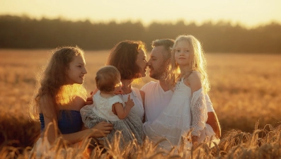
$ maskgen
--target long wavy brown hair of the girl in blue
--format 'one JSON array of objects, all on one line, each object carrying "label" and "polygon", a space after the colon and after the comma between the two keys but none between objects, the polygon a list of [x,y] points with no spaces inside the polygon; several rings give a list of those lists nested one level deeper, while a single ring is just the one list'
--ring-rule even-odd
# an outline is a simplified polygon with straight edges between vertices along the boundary
[{"label": "long wavy brown hair of the girl in blue", "polygon": [[47,102],[55,105],[57,117],[59,107],[67,106],[76,95],[86,98],[86,89],[82,84],[67,85],[69,64],[78,56],[84,58],[84,52],[79,47],[59,47],[52,52],[52,57],[38,75],[37,91],[30,102],[31,118],[38,119],[40,99],[45,95],[52,100]]}]

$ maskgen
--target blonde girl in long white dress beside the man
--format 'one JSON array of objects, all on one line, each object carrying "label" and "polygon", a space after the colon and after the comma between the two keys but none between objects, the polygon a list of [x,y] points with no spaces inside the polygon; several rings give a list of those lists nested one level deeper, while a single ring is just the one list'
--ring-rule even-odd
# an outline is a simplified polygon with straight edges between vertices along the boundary
[{"label": "blonde girl in long white dress beside the man", "polygon": [[[159,147],[171,150],[204,141],[219,142],[207,122],[205,94],[210,90],[206,60],[200,42],[192,35],[180,35],[172,48],[171,66],[176,72],[176,88],[169,105],[154,122],[144,123],[144,133]],[[193,130],[190,135],[189,131]],[[191,141],[191,142],[190,142]]]}]

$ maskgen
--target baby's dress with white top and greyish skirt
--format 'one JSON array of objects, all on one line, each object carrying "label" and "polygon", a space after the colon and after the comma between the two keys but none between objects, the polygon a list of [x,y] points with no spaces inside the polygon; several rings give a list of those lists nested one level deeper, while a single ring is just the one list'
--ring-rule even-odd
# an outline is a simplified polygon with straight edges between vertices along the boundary
[{"label": "baby's dress with white top and greyish skirt", "polygon": [[112,106],[116,102],[120,102],[125,106],[125,103],[117,95],[112,98],[103,98],[101,97],[101,91],[98,90],[96,95],[93,95],[93,105],[86,105],[80,110],[82,121],[88,128],[92,128],[100,122],[113,124],[113,130],[110,131],[110,134],[100,139],[105,141],[105,146],[113,142],[113,136],[116,131],[122,132],[120,148],[124,148],[127,143],[134,139],[137,139],[137,142],[141,144],[144,139],[142,120],[133,112],[130,112],[125,119],[119,119],[112,112]]}]

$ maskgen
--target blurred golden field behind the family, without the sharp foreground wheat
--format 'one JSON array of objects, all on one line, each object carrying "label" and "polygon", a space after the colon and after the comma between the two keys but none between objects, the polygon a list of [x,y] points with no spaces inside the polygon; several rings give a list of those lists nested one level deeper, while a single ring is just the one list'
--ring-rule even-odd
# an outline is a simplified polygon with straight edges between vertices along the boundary
[{"label": "blurred golden field behind the family, without the sharp foreground wheat", "polygon": [[[49,49],[0,49],[0,143],[32,146],[40,124],[28,118],[28,105],[35,90],[36,76],[50,56]],[[85,86],[95,88],[96,71],[104,65],[109,50],[85,50],[88,74]],[[149,52],[148,52],[149,59]],[[255,123],[276,126],[280,119],[281,54],[207,52],[212,100],[222,134],[230,129],[253,132]],[[134,83],[141,88],[147,77]]]}]

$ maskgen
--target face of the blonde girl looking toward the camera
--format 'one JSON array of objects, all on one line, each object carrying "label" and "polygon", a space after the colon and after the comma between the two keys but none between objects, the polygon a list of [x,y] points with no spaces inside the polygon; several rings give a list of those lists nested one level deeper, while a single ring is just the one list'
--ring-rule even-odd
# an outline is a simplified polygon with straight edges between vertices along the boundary
[{"label": "face of the blonde girl looking toward the camera", "polygon": [[180,40],[175,48],[175,60],[179,66],[191,67],[191,57],[193,56],[193,49],[190,47],[188,41]]}]

